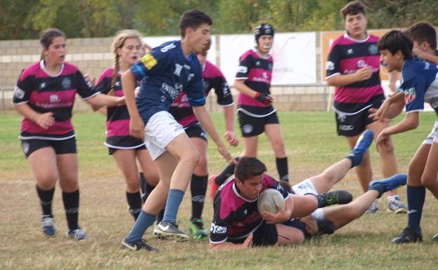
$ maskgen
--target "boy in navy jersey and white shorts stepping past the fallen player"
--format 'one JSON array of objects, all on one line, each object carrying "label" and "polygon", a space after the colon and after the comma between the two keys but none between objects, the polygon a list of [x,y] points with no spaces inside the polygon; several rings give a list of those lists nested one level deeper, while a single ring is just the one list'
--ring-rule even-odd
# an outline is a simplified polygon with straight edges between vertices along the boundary
[{"label": "boy in navy jersey and white shorts stepping past the fallen player", "polygon": [[[221,155],[233,161],[205,110],[202,68],[195,55],[210,40],[210,25],[211,18],[202,11],[186,11],[180,20],[181,41],[169,41],[154,48],[122,75],[131,135],[144,138],[160,173],[160,182],[146,199],[129,236],[122,241],[122,248],[154,250],[141,238],[164,205],[163,220],[154,233],[188,239],[175,220],[199,154],[181,124],[169,114],[170,105],[181,91],[187,93],[196,118],[217,144]],[[134,97],[136,80],[142,83]]]}]

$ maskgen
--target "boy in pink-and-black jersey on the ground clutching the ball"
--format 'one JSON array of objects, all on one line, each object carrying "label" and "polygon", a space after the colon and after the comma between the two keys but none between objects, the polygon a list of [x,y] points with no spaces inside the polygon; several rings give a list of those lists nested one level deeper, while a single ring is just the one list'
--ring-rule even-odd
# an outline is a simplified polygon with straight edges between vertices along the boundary
[{"label": "boy in pink-and-black jersey on the ground clutching the ball", "polygon": [[[235,178],[226,182],[214,196],[214,219],[210,248],[240,249],[254,245],[295,244],[304,241],[302,230],[292,227],[292,217],[309,215],[317,208],[340,203],[339,192],[304,196],[289,194],[276,180],[265,174],[266,166],[257,158],[240,158]],[[283,194],[285,209],[278,212],[257,210],[259,194],[276,189]],[[351,201],[351,194],[348,194]],[[332,199],[329,199],[332,198]],[[348,202],[348,200],[347,200]],[[299,205],[295,207],[294,205]],[[304,225],[303,225],[304,226]]]}]

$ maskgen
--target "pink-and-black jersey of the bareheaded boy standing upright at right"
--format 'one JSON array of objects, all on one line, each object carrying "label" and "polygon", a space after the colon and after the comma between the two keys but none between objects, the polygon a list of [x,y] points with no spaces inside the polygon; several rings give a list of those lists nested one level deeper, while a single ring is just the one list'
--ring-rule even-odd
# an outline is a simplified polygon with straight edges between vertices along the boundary
[{"label": "pink-and-black jersey of the bareheaded boy standing upright at right", "polygon": [[[378,36],[371,34],[366,39],[357,40],[347,33],[335,39],[326,62],[326,79],[340,74],[352,74],[366,66],[373,69],[371,78],[366,81],[358,81],[348,86],[336,86],[335,102],[366,104],[372,97],[383,95],[383,89],[380,85],[378,40]],[[339,109],[342,110],[342,108]]]}]

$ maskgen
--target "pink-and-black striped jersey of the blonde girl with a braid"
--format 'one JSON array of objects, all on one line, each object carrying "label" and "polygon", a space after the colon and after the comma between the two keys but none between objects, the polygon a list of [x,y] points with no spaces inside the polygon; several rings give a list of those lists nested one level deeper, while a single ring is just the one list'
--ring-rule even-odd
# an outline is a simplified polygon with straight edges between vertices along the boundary
[{"label": "pink-and-black striped jersey of the blonde girl with a braid", "polygon": [[[105,69],[96,84],[96,90],[108,94],[111,87],[113,68]],[[114,86],[114,95],[123,96],[120,72]],[[134,149],[144,144],[142,140],[132,137],[129,133],[129,112],[125,104],[107,108],[105,145],[113,148]]]}]

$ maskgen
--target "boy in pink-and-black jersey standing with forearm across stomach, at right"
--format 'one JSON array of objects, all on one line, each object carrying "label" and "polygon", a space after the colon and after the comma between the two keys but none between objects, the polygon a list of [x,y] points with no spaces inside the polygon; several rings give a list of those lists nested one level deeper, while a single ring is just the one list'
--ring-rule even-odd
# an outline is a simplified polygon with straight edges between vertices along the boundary
[{"label": "boy in pink-and-black jersey standing with forearm across stomach, at right", "polygon": [[[334,107],[337,135],[347,139],[349,147],[356,144],[363,130],[371,129],[378,135],[389,123],[368,119],[368,109],[378,108],[385,100],[380,85],[380,62],[377,48],[378,36],[366,32],[365,6],[361,1],[352,1],[341,10],[347,32],[339,36],[330,48],[326,62],[327,83],[335,86]],[[397,173],[394,149],[379,151],[383,177]],[[363,191],[373,177],[371,157],[366,154],[356,175]],[[406,207],[394,191],[389,191],[388,210],[406,212]],[[375,201],[368,212],[378,211]]]}]

